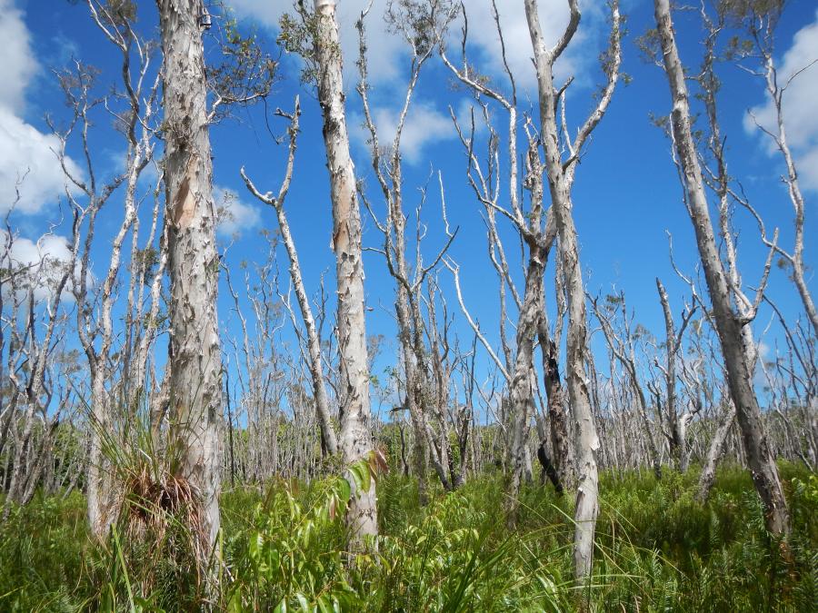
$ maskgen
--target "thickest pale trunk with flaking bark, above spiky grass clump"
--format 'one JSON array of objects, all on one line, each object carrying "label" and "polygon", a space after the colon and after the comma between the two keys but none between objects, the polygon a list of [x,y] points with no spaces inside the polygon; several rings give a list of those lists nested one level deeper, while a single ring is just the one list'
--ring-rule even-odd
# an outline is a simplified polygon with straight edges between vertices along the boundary
[{"label": "thickest pale trunk with flaking bark, above spiky grass clump", "polygon": [[165,55],[165,190],[171,298],[172,446],[180,476],[197,494],[203,546],[219,531],[222,419],[221,352],[216,324],[213,163],[207,120],[202,0],[157,0]]}]

